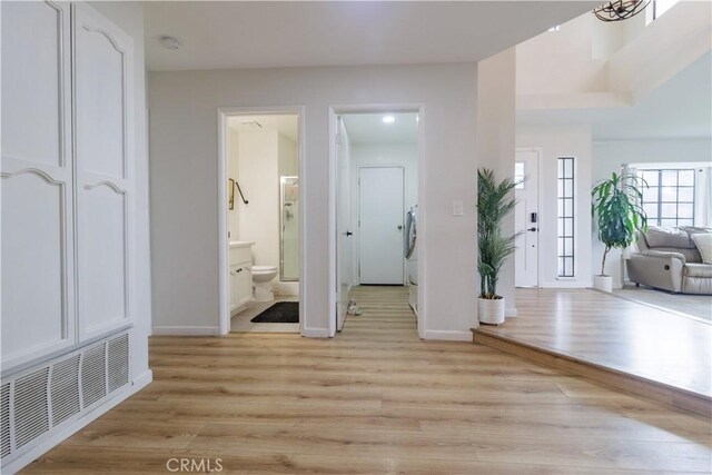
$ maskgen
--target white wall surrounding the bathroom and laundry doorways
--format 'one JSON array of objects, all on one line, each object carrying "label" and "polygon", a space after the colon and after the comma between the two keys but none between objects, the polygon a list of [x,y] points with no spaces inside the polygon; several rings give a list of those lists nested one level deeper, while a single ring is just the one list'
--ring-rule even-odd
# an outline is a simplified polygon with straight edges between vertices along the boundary
[{"label": "white wall surrounding the bathroom and laundry doorways", "polygon": [[[328,108],[412,103],[425,110],[422,335],[471,338],[476,276],[475,65],[154,72],[149,85],[155,325],[218,326],[219,107],[305,108],[304,335],[327,336]],[[465,204],[463,217],[451,216],[453,200]]]}]

